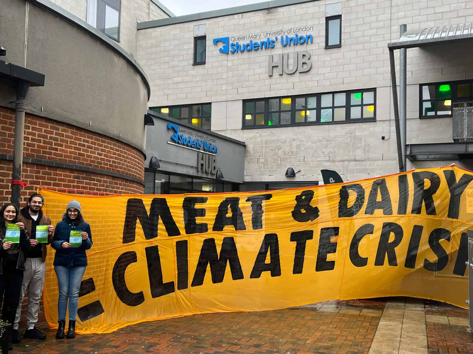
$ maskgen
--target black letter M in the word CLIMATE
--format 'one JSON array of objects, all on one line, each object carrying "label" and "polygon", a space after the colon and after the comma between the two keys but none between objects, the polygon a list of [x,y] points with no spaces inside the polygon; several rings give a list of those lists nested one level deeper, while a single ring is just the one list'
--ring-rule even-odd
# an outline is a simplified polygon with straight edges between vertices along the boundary
[{"label": "black letter M in the word CLIMATE", "polygon": [[191,287],[198,287],[203,284],[208,264],[210,265],[212,283],[221,283],[227,269],[227,261],[232,273],[232,279],[243,279],[243,271],[233,237],[223,238],[220,257],[217,255],[215,238],[206,238],[202,243],[201,254],[199,255],[199,261],[197,261]]}]

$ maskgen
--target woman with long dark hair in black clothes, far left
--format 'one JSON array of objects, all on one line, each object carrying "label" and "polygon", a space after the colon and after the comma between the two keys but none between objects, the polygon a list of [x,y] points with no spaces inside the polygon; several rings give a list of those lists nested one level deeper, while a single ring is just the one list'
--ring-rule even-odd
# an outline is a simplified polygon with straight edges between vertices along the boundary
[{"label": "woman with long dark hair in black clothes, far left", "polygon": [[[0,209],[0,301],[3,299],[1,319],[13,325],[23,282],[26,255],[31,243],[25,225],[18,222],[18,208],[12,203],[5,203]],[[16,224],[20,228],[19,243],[5,241],[7,225]],[[9,339],[11,349],[11,338]]]}]

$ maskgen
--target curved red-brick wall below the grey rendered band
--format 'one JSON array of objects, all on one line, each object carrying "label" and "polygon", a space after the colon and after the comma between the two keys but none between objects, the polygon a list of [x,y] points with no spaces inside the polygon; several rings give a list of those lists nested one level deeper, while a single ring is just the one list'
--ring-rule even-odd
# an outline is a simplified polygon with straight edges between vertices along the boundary
[{"label": "curved red-brick wall below the grey rendered band", "polygon": [[[14,112],[0,108],[0,154],[13,154]],[[98,133],[26,114],[24,156],[87,166],[144,179],[144,155],[137,149]],[[12,162],[0,160],[0,202],[10,199]],[[22,180],[44,187],[91,192],[142,194],[143,185],[106,174],[24,163]],[[22,188],[22,202],[35,190]]]}]

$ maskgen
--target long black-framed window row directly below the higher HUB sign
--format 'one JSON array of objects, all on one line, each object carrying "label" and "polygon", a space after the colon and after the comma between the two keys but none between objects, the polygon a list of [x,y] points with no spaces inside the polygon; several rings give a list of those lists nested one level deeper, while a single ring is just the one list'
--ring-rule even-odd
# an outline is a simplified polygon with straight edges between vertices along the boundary
[{"label": "long black-framed window row directly below the higher HUB sign", "polygon": [[243,128],[376,120],[376,90],[243,101]]}]

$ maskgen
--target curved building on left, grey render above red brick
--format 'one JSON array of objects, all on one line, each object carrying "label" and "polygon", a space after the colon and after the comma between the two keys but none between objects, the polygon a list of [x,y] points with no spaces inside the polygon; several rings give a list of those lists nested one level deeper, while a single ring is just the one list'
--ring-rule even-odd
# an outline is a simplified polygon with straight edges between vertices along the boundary
[{"label": "curved building on left, grey render above red brick", "polygon": [[[100,28],[87,22],[91,0],[0,0],[1,202],[10,200],[12,180],[13,71],[24,69],[43,74],[44,86],[26,95],[22,180],[63,191],[143,193],[150,82],[134,57],[136,24],[168,15],[151,0],[108,2],[95,0],[96,22],[107,24]],[[15,70],[6,73],[9,67]],[[33,191],[22,188],[23,201]]]}]

